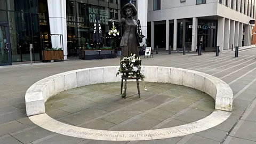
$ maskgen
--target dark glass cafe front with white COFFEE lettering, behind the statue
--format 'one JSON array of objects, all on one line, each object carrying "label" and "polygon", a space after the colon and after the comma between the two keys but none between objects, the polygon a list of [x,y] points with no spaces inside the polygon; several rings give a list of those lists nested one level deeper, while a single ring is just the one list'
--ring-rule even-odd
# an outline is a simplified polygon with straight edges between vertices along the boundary
[{"label": "dark glass cafe front with white COFFEE lettering, behind the statue", "polygon": [[[112,23],[108,19],[121,19],[120,0],[68,0],[67,6],[67,43],[68,56],[77,54],[78,47],[82,46],[82,39],[86,39],[86,47],[97,47],[93,42],[94,20],[99,19],[103,41],[99,47],[111,46],[111,39],[108,35]],[[116,25],[117,29],[121,26]],[[118,46],[121,36],[115,37],[114,46]]]}]

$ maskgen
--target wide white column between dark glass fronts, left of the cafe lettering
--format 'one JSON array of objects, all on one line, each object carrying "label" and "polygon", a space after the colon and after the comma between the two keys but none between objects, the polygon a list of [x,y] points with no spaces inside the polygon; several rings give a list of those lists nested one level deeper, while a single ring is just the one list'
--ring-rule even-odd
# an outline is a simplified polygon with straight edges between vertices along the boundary
[{"label": "wide white column between dark glass fronts, left of the cafe lettering", "polygon": [[64,59],[67,59],[67,17],[66,1],[47,0],[51,34],[63,35],[63,45],[60,36],[52,36],[52,47],[63,48]]}]

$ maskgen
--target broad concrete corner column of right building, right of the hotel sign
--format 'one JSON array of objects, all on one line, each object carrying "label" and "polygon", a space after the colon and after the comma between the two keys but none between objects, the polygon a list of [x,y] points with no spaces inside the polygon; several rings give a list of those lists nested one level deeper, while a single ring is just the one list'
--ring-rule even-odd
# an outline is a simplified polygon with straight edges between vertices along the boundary
[{"label": "broad concrete corner column of right building, right of the hotel sign", "polygon": [[224,47],[224,30],[225,30],[225,18],[218,18],[218,36],[217,46],[220,46],[220,51],[223,51]]}]

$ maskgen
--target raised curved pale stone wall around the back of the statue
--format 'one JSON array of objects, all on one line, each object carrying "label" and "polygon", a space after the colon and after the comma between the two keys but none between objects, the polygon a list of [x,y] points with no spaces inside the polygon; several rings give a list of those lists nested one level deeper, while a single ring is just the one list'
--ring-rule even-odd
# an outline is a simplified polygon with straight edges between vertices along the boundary
[{"label": "raised curved pale stone wall around the back of the statue", "polygon": [[[46,77],[36,82],[26,92],[27,116],[45,113],[44,103],[54,95],[76,87],[121,82],[116,77],[119,66],[78,69]],[[215,100],[215,109],[231,111],[233,92],[228,84],[214,76],[194,70],[173,67],[142,66],[146,82],[172,83],[203,91]]]}]

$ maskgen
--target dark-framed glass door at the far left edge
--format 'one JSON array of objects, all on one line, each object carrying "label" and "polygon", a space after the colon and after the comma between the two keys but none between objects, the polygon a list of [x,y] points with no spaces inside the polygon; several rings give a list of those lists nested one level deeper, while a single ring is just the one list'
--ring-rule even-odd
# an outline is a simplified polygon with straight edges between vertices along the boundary
[{"label": "dark-framed glass door at the far left edge", "polygon": [[0,23],[0,66],[12,65],[9,29]]}]

